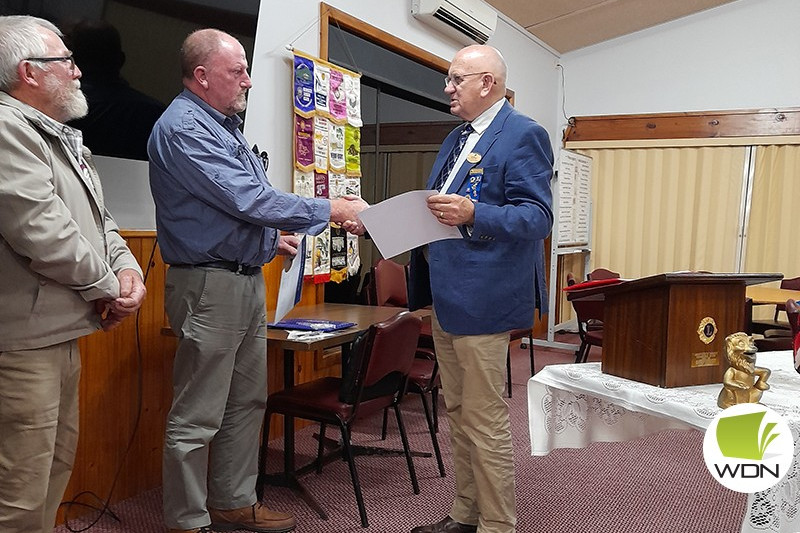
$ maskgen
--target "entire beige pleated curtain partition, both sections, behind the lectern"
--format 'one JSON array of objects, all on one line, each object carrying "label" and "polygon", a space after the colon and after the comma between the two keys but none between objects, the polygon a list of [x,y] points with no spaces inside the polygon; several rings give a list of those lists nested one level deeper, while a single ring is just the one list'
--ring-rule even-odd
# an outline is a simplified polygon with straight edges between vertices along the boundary
[{"label": "entire beige pleated curtain partition, both sections, behind the lectern", "polygon": [[[800,276],[792,231],[800,218],[800,145],[754,146],[750,158],[751,146],[702,143],[577,150],[592,158],[590,268],[626,278],[737,272],[741,255],[743,272]],[[562,265],[563,278],[581,261],[567,256]],[[560,311],[558,321],[572,316],[563,298]],[[756,309],[754,316],[771,313]]]}]

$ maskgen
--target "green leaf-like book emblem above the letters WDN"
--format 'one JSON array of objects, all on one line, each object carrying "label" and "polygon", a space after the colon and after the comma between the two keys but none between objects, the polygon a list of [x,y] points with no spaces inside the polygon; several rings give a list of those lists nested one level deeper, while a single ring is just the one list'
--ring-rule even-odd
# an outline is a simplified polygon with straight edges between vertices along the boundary
[{"label": "green leaf-like book emblem above the letters WDN", "polygon": [[773,432],[776,424],[770,422],[761,428],[765,411],[744,415],[727,416],[719,419],[717,424],[717,444],[725,457],[761,461],[767,446],[780,433]]}]

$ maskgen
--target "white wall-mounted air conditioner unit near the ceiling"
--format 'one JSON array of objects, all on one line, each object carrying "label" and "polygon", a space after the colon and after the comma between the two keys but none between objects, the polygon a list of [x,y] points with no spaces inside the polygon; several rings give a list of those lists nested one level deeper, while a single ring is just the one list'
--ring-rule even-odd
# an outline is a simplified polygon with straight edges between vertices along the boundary
[{"label": "white wall-mounted air conditioner unit near the ceiling", "polygon": [[411,0],[411,14],[463,44],[484,44],[497,28],[483,0]]}]

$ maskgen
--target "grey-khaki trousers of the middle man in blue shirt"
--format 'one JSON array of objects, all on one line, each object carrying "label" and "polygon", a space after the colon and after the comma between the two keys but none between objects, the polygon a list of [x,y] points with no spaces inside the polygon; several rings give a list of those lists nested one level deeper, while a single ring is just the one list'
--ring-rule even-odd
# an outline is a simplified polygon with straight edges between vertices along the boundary
[{"label": "grey-khaki trousers of the middle man in blue shirt", "polygon": [[207,526],[208,507],[256,502],[267,401],[264,291],[260,272],[167,271],[165,308],[179,337],[162,472],[168,528]]}]

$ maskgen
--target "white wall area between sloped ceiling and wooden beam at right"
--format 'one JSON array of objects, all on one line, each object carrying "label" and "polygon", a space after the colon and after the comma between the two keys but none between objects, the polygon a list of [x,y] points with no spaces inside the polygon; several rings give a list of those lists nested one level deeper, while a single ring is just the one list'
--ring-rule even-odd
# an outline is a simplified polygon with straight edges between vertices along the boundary
[{"label": "white wall area between sloped ceiling and wooden beam at right", "polygon": [[738,0],[564,54],[566,113],[796,107],[798,22],[798,0]]}]

